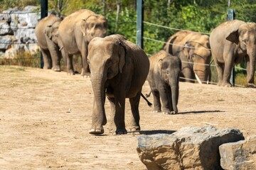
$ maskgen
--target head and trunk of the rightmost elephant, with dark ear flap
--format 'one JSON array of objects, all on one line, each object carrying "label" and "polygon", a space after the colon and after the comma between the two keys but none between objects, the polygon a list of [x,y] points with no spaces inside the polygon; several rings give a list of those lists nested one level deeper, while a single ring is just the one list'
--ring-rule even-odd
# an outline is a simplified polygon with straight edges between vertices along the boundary
[{"label": "head and trunk of the rightmost elephant, with dark ear flap", "polygon": [[245,55],[247,62],[247,86],[255,86],[256,23],[244,23],[238,29],[231,30],[226,40],[238,45],[238,48],[240,48],[238,55]]}]

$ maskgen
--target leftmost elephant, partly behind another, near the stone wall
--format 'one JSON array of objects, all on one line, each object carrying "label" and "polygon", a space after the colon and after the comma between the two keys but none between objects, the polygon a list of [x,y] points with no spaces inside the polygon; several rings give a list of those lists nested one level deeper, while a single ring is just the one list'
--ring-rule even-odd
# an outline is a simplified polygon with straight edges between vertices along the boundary
[{"label": "leftmost elephant, partly behind another, near the stone wall", "polygon": [[63,43],[58,36],[58,27],[62,18],[53,14],[43,18],[36,24],[36,38],[43,55],[43,69],[53,69],[60,72],[60,59],[63,56],[66,62]]}]

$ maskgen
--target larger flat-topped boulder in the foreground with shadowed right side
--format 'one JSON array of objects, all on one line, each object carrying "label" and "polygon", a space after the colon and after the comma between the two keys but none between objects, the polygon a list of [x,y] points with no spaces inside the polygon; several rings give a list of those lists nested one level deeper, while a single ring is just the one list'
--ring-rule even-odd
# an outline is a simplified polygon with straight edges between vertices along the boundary
[{"label": "larger flat-topped boulder in the foreground with shadowed right side", "polygon": [[139,158],[147,169],[222,169],[218,147],[244,137],[233,128],[206,126],[184,127],[171,135],[139,136],[137,140]]}]

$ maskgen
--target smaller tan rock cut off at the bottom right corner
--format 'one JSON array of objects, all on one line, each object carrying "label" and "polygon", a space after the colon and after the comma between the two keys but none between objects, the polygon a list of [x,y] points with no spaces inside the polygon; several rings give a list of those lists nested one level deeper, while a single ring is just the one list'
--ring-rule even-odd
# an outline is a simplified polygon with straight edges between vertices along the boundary
[{"label": "smaller tan rock cut off at the bottom right corner", "polygon": [[256,169],[256,135],[220,145],[219,149],[223,169]]}]

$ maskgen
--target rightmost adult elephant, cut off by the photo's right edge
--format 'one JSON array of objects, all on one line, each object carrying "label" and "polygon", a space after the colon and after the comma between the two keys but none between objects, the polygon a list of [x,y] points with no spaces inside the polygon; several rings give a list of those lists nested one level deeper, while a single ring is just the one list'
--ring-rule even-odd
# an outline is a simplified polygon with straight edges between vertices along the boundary
[{"label": "rightmost adult elephant, cut off by the photo's right edge", "polygon": [[231,86],[234,64],[247,64],[247,85],[255,87],[256,23],[233,20],[221,23],[210,33],[210,47],[218,72],[218,86]]}]

